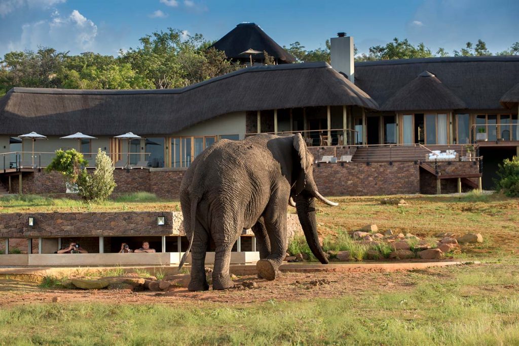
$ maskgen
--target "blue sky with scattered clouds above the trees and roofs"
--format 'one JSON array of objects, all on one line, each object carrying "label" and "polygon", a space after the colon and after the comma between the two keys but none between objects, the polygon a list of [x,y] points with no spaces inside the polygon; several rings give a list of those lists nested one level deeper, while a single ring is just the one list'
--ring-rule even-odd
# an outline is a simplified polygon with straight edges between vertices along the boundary
[{"label": "blue sky with scattered clouds above the trees and roofs", "polygon": [[216,40],[240,22],[259,24],[281,46],[315,49],[344,31],[360,52],[393,37],[433,52],[481,38],[497,52],[519,41],[518,13],[517,0],[0,0],[0,56],[38,46],[117,55],[167,27]]}]

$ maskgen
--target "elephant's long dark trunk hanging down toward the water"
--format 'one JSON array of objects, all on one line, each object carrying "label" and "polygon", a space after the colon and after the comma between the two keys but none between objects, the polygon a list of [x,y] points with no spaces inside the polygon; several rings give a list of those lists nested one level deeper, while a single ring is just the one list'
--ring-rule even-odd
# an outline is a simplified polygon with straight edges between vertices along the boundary
[{"label": "elephant's long dark trunk hanging down toward the water", "polygon": [[319,244],[319,237],[317,235],[315,199],[312,196],[302,195],[304,195],[304,193],[296,196],[296,209],[299,222],[301,222],[306,241],[313,255],[315,255],[322,264],[327,264],[328,258]]}]

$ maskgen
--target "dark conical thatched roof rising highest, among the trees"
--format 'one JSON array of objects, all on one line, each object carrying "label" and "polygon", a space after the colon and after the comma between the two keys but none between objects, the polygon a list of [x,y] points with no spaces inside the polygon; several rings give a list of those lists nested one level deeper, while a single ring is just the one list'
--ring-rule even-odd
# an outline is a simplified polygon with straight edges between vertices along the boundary
[{"label": "dark conical thatched roof rising highest, among the trees", "polygon": [[294,56],[285,51],[270,36],[254,23],[241,23],[215,42],[214,47],[223,50],[229,59],[249,60],[248,54],[240,54],[248,49],[262,53],[253,54],[253,59],[264,59],[263,51],[278,59],[278,63],[293,63]]}]

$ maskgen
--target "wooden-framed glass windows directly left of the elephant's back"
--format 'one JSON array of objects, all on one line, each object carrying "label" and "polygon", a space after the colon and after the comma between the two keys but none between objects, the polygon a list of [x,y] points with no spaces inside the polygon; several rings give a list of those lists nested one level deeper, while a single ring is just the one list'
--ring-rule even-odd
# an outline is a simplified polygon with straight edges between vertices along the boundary
[{"label": "wooden-framed glass windows directly left of the elephant's back", "polygon": [[171,167],[189,167],[195,157],[215,141],[216,136],[171,138]]}]

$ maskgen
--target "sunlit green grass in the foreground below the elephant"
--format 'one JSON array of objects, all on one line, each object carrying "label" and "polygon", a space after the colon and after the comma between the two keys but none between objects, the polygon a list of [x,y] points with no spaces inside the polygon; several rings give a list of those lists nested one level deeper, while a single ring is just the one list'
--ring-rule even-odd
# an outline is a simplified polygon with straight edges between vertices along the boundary
[{"label": "sunlit green grass in the foreground below the elephant", "polygon": [[[390,274],[390,273],[388,273]],[[409,273],[403,292],[262,303],[81,302],[0,310],[11,344],[519,344],[515,266]],[[512,288],[510,288],[512,286]],[[24,331],[30,329],[30,333]]]}]

